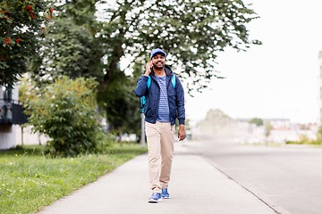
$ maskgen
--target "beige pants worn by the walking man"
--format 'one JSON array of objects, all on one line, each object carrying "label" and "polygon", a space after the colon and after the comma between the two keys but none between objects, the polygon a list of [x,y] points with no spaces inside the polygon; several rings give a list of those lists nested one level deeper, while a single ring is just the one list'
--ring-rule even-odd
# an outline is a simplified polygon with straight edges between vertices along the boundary
[{"label": "beige pants worn by the walking man", "polygon": [[170,122],[146,122],[148,140],[148,177],[153,193],[161,193],[170,180],[174,153],[175,125]]}]

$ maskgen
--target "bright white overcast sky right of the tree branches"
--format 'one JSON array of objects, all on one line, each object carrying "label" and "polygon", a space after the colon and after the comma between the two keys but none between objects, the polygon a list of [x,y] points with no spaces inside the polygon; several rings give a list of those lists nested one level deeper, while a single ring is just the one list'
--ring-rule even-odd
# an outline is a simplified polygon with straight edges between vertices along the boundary
[{"label": "bright white overcast sky right of the tree branches", "polygon": [[[249,1],[250,2],[250,1]],[[248,25],[246,53],[228,49],[217,58],[225,79],[186,96],[186,117],[204,119],[220,109],[234,119],[318,120],[318,52],[322,51],[321,0],[253,0],[260,19]]]}]

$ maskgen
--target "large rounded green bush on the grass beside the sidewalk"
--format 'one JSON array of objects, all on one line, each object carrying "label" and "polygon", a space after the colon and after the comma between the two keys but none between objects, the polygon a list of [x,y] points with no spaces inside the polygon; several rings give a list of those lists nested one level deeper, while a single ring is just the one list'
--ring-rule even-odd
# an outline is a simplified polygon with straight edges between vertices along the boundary
[{"label": "large rounded green bush on the grass beside the sidewalk", "polygon": [[94,79],[63,77],[48,85],[28,105],[33,131],[49,136],[47,152],[74,156],[94,152],[106,141],[99,126]]}]

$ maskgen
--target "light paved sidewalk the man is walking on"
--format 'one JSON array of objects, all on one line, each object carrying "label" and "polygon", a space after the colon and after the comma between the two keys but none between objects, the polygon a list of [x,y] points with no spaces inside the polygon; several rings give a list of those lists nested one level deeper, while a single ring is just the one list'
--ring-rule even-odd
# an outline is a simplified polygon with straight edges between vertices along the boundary
[{"label": "light paved sidewalk the man is walking on", "polygon": [[264,202],[202,157],[174,145],[171,199],[148,203],[148,156],[142,154],[113,172],[54,202],[41,214],[274,214]]}]

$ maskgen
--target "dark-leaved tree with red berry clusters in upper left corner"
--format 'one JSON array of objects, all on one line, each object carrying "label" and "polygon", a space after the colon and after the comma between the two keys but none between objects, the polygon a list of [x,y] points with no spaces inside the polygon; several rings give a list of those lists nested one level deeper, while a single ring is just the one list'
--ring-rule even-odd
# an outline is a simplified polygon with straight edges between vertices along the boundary
[{"label": "dark-leaved tree with red berry clusters in upper left corner", "polygon": [[12,86],[38,57],[38,39],[54,9],[40,0],[2,0],[0,3],[0,86]]}]

